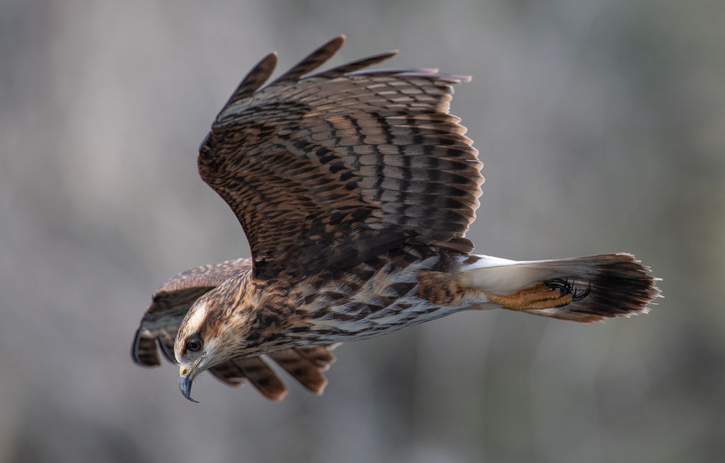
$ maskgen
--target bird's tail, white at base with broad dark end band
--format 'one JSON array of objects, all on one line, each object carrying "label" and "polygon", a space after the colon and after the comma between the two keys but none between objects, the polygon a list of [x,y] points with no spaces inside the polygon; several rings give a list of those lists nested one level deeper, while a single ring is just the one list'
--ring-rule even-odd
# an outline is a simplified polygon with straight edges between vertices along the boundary
[{"label": "bird's tail, white at base with broad dark end band", "polygon": [[[479,260],[471,262],[473,257]],[[513,309],[544,317],[589,323],[605,317],[647,313],[647,305],[660,295],[655,286],[658,279],[650,274],[650,268],[624,252],[521,262],[481,255],[468,256],[465,262],[460,268],[461,282],[471,289],[514,298],[531,293],[523,289],[543,284],[540,287],[544,292],[559,289],[562,296],[572,295],[571,302],[558,307],[527,309],[523,305]]]}]

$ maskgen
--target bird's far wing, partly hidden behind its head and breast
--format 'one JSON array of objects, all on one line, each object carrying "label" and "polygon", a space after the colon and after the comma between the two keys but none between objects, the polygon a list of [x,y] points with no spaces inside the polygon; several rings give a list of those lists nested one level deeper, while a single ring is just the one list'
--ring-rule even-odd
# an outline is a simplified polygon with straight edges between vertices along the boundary
[{"label": "bird's far wing, partly hidden behind its head and breast", "polygon": [[[154,294],[153,302],[136,330],[131,347],[133,361],[148,367],[161,365],[160,350],[167,360],[175,362],[173,351],[176,332],[189,307],[202,294],[225,280],[251,270],[251,259],[236,259],[193,268],[169,279]],[[328,344],[281,349],[268,354],[268,357],[302,386],[315,394],[322,394],[327,379],[321,372],[326,371],[335,361],[330,352],[334,347],[334,344]],[[261,357],[233,359],[209,371],[229,386],[252,383],[268,399],[283,399],[287,392],[274,370]]]}]

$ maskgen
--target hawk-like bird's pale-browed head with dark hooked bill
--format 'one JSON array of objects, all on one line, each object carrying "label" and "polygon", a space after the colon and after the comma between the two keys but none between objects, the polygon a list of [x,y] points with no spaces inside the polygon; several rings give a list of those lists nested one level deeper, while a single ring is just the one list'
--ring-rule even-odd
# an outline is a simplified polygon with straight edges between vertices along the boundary
[{"label": "hawk-like bird's pale-browed head with dark hooked bill", "polygon": [[[231,279],[234,280],[234,279]],[[186,313],[174,343],[179,364],[179,389],[191,402],[196,375],[220,363],[249,353],[246,341],[252,307],[245,310],[239,289],[244,284],[227,281],[207,292]]]}]

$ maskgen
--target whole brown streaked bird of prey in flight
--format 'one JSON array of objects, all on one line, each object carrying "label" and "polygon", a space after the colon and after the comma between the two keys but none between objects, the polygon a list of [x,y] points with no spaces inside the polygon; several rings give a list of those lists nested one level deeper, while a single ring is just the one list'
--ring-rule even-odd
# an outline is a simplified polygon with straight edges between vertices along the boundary
[{"label": "whole brown streaked bird of prey in flight", "polygon": [[[199,174],[228,203],[252,258],[179,273],[133,340],[179,388],[204,370],[286,394],[268,362],[321,394],[341,341],[462,310],[502,307],[578,322],[647,311],[649,268],[626,253],[515,261],[471,254],[481,162],[437,69],[365,69],[397,52],[310,74],[334,38],[272,83],[269,54],[244,77],[199,148]],[[196,402],[196,401],[194,401]]]}]

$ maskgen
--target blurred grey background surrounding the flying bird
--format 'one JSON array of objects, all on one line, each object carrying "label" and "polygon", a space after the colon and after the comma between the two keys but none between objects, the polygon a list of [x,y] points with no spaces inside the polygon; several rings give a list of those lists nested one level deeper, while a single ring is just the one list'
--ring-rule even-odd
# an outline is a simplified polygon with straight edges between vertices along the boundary
[{"label": "blurred grey background surrounding the flying bird", "polygon": [[[708,462],[725,453],[725,4],[0,2],[0,461]],[[345,344],[281,403],[130,360],[157,286],[248,255],[196,148],[269,51],[473,75],[476,252],[629,251],[666,299]],[[283,70],[283,69],[280,69]],[[279,71],[279,70],[278,70]]]}]

